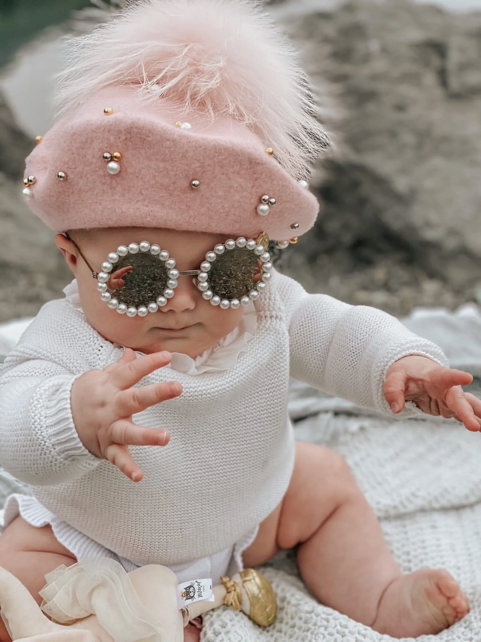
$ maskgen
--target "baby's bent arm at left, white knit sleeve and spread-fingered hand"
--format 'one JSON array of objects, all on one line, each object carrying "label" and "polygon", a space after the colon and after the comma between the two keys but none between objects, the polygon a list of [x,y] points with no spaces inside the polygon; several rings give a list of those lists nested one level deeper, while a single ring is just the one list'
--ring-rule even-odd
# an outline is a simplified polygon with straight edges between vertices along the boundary
[{"label": "baby's bent arm at left, white knit sleeve and spread-fingered hand", "polygon": [[[0,370],[0,465],[22,482],[50,486],[77,480],[107,459],[139,481],[142,471],[128,446],[165,445],[169,435],[162,426],[135,426],[132,415],[178,396],[181,388],[135,384],[167,365],[170,355],[137,359],[126,350],[102,370],[96,351],[86,360],[71,334],[57,331],[59,318],[71,322],[69,313],[62,302],[48,304]],[[97,350],[105,348],[94,334],[90,340]]]}]

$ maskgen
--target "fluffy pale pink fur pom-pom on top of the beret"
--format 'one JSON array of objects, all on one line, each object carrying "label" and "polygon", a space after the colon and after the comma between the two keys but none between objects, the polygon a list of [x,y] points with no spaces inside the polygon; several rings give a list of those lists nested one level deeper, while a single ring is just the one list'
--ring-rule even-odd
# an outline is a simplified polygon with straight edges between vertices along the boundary
[{"label": "fluffy pale pink fur pom-pom on top of the beret", "polygon": [[97,0],[108,21],[69,40],[59,115],[109,85],[138,85],[148,100],[173,102],[180,116],[200,110],[244,123],[291,175],[308,176],[328,136],[296,52],[258,4],[113,1],[119,12]]}]

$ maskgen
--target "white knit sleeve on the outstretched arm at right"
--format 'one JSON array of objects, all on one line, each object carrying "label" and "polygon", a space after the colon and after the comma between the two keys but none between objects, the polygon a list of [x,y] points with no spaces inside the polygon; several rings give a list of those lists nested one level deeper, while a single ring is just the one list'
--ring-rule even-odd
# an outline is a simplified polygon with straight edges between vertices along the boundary
[{"label": "white knit sleeve on the outstretched arm at right", "polygon": [[419,354],[448,365],[441,349],[391,315],[307,294],[287,277],[278,280],[289,310],[292,377],[358,406],[389,412],[383,384],[394,361]]}]

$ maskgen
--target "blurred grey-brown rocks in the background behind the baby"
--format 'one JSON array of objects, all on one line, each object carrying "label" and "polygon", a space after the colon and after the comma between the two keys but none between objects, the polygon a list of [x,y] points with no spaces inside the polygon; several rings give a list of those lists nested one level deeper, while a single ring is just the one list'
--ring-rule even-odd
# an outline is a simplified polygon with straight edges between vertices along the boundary
[{"label": "blurred grey-brown rocks in the background behind the baby", "polygon": [[[322,4],[269,3],[305,51],[334,143],[310,185],[323,215],[282,270],[396,315],[481,302],[481,12]],[[0,322],[34,315],[69,280],[19,197],[33,144],[0,96]]]}]

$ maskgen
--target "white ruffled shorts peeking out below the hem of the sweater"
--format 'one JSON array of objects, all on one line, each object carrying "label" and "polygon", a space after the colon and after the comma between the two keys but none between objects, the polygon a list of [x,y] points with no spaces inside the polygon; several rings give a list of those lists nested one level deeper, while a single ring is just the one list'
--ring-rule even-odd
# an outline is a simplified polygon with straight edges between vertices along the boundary
[{"label": "white ruffled shorts peeking out below the hem of the sweater", "polygon": [[[21,516],[36,528],[50,525],[56,540],[62,546],[65,546],[76,557],[78,562],[94,557],[109,557],[119,562],[127,573],[139,566],[124,557],[116,555],[116,553],[108,550],[102,544],[90,539],[90,537],[76,530],[76,528],[69,526],[31,495],[13,494],[7,498],[4,509],[0,510],[0,534],[18,516]],[[220,584],[222,575],[230,575],[232,577],[235,573],[242,571],[244,568],[242,565],[242,553],[255,540],[257,532],[258,527],[244,535],[234,546],[210,557],[185,562],[185,564],[175,564],[174,566],[169,566],[169,568],[177,575],[179,582],[208,577],[212,578],[214,586]]]}]

